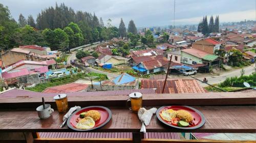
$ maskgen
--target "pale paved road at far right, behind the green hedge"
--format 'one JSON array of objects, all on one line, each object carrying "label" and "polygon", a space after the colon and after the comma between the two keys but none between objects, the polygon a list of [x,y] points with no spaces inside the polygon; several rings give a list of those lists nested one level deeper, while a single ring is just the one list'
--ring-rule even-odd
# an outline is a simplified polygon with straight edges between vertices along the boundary
[{"label": "pale paved road at far right, behind the green hedge", "polygon": [[[249,75],[252,72],[254,72],[254,68],[255,68],[255,64],[244,68],[244,71],[245,71],[244,75]],[[223,73],[219,76],[207,76],[205,78],[208,80],[209,84],[217,84],[217,83],[223,82],[227,77],[241,76],[240,71],[241,71],[241,69],[236,69],[236,70],[233,70],[233,71],[230,71],[230,72]],[[199,79],[203,80],[203,78],[199,78]],[[201,85],[203,87],[208,86],[207,84],[202,83],[202,82],[201,82]]]}]

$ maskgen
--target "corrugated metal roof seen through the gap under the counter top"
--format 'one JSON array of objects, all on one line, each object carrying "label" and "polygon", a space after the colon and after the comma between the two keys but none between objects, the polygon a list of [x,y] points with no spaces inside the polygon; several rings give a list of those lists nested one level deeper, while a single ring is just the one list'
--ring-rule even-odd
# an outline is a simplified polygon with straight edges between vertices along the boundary
[{"label": "corrugated metal roof seen through the gap under the counter top", "polygon": [[[131,132],[39,132],[40,138],[133,138]],[[180,133],[149,132],[144,138],[180,139]]]}]

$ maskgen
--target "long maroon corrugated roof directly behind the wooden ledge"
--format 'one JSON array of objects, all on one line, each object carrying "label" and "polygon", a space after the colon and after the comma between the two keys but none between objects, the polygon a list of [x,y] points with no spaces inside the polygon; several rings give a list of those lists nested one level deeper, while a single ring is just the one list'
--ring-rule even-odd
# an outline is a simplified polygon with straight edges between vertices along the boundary
[{"label": "long maroon corrugated roof directly behind the wooden ledge", "polygon": [[[133,92],[140,92],[142,94],[156,94],[154,89],[137,89],[137,90],[118,90],[118,91],[98,91],[98,92],[72,92],[66,93],[69,97],[72,96],[115,96],[115,95],[129,95]],[[27,90],[13,89],[0,94],[0,98],[16,98],[16,97],[54,97],[60,93],[40,93]]]}]

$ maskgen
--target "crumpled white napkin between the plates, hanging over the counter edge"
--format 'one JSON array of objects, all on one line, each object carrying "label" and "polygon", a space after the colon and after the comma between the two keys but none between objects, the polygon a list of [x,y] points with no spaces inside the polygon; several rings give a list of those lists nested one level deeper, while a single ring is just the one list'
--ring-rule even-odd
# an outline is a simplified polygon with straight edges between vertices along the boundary
[{"label": "crumpled white napkin between the plates, hanging over the counter edge", "polygon": [[153,113],[156,113],[157,108],[151,108],[149,110],[146,110],[145,108],[140,108],[138,111],[138,117],[142,123],[140,132],[146,132],[146,126],[150,125],[151,118],[153,116]]}]

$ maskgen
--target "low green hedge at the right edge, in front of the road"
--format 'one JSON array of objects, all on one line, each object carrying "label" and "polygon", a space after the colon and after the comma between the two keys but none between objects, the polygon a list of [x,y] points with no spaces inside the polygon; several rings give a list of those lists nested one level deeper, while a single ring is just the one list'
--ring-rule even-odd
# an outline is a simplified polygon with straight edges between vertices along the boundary
[{"label": "low green hedge at the right edge, in front of the road", "polygon": [[218,86],[221,88],[225,87],[244,87],[243,82],[248,82],[251,86],[256,86],[256,73],[253,73],[248,76],[240,76],[240,77],[228,77],[225,81],[221,82]]}]

